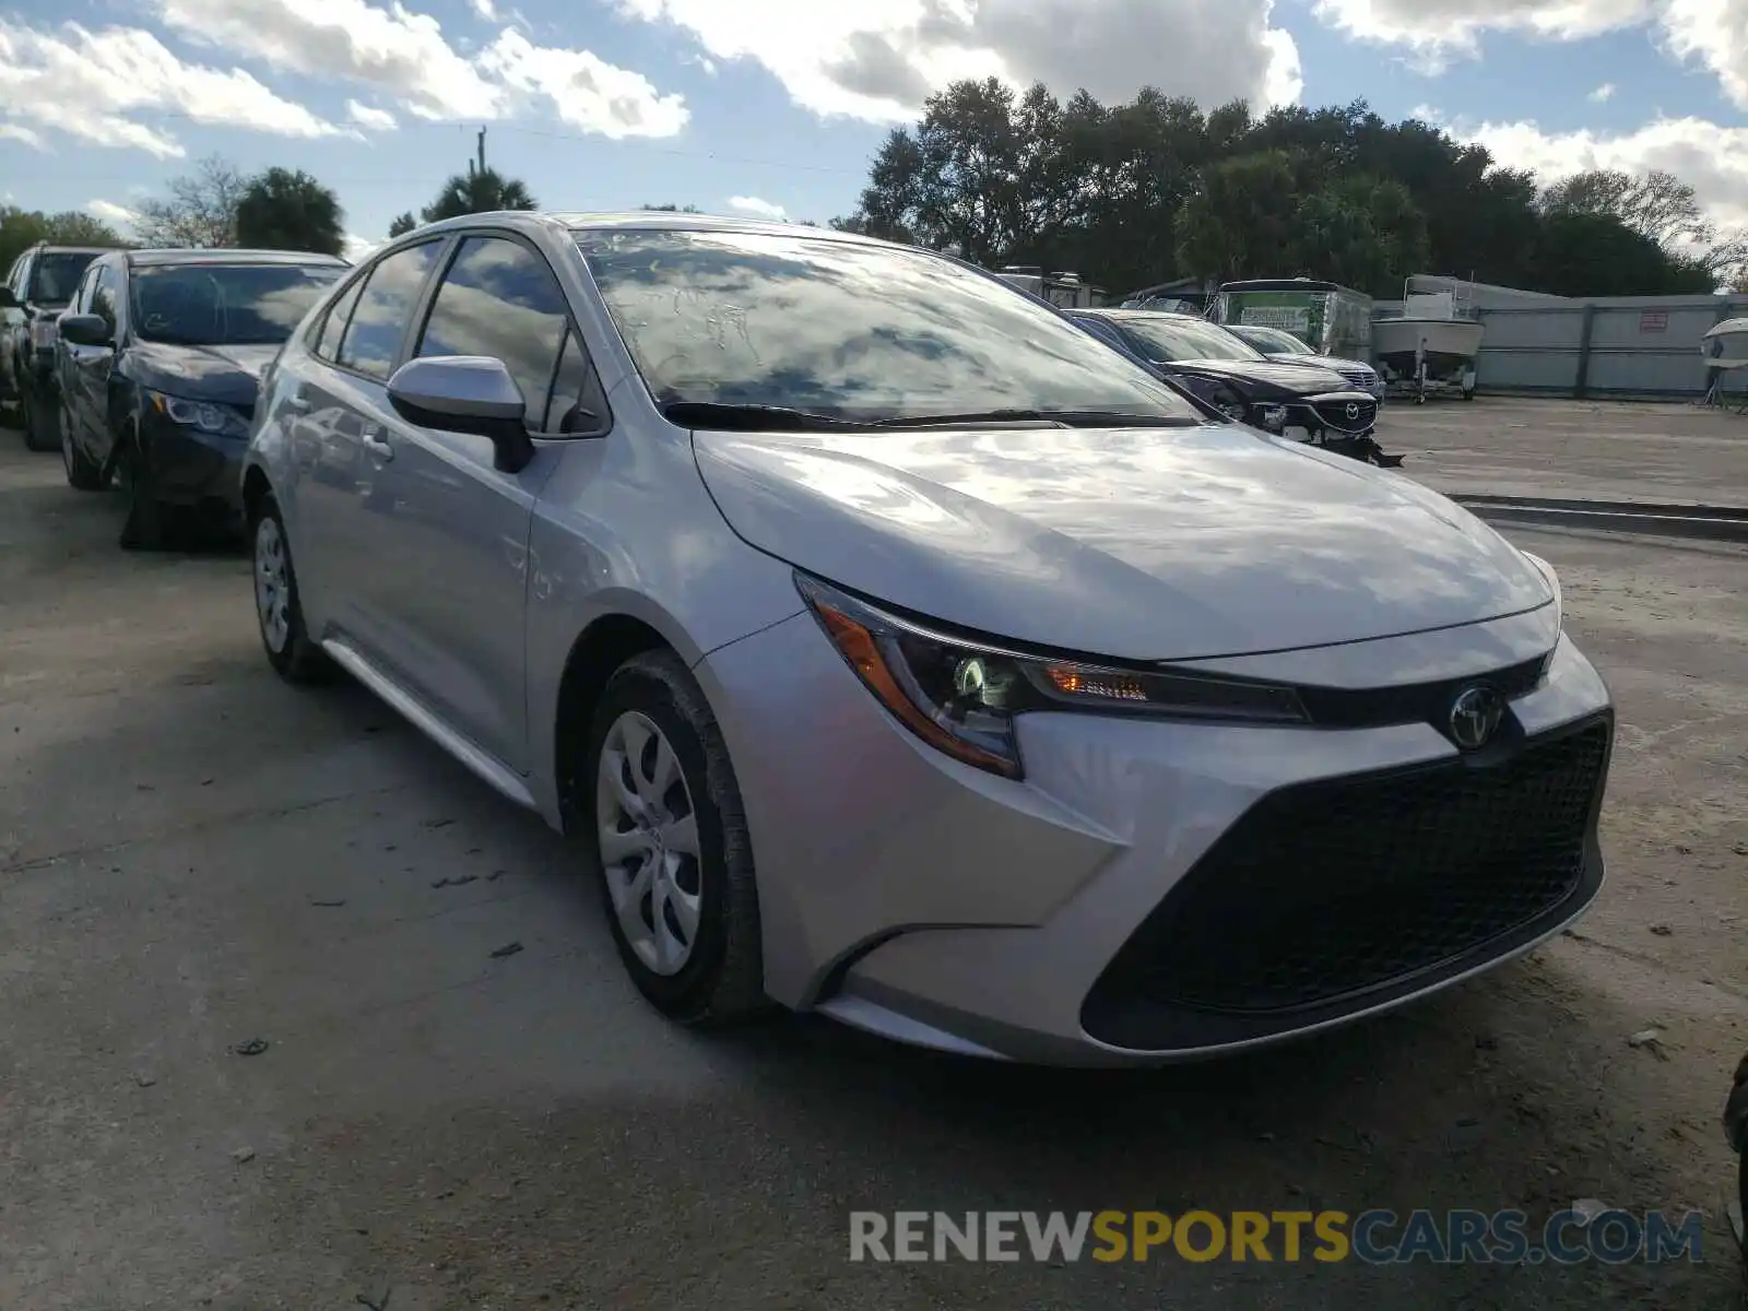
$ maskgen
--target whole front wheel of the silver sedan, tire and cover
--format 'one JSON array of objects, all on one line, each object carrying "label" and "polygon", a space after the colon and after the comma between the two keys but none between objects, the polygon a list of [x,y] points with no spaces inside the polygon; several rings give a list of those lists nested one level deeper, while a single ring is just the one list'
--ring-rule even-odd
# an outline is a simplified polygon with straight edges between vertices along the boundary
[{"label": "whole front wheel of the silver sedan, tire and cover", "polygon": [[729,750],[671,652],[626,661],[589,732],[584,792],[614,942],[682,1024],[767,1005],[752,841]]}]

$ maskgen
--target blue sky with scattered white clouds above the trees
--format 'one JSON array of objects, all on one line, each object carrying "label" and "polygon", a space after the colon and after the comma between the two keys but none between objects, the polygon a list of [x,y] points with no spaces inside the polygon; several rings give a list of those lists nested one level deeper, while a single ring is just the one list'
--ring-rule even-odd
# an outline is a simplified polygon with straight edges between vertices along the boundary
[{"label": "blue sky with scattered white clouds above the trees", "polygon": [[1748,222],[1748,0],[0,0],[0,194],[124,222],[304,168],[360,243],[488,161],[552,208],[825,220],[958,75],[1369,100],[1547,177],[1673,168]]}]

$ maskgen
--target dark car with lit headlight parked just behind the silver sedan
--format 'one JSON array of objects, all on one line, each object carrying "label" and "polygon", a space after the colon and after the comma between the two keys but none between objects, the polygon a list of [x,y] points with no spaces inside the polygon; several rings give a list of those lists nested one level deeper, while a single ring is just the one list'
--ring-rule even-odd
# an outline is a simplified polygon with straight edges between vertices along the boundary
[{"label": "dark car with lit headlight parked just behind the silver sedan", "polygon": [[344,271],[280,250],[117,250],[59,320],[66,481],[128,486],[121,544],[161,545],[173,512],[241,516],[239,470],[262,371]]}]

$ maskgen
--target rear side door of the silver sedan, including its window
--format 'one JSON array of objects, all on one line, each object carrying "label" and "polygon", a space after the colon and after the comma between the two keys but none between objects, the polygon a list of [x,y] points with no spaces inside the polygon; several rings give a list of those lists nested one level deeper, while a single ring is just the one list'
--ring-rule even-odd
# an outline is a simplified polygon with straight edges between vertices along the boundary
[{"label": "rear side door of the silver sedan, including its window", "polygon": [[365,507],[388,495],[388,465],[365,442],[379,439],[388,376],[446,245],[432,238],[367,266],[329,308],[308,346],[313,358],[290,362],[274,386],[274,418],[297,470],[285,489],[292,559],[316,636],[337,629],[372,661],[383,643],[362,603],[374,568],[364,528]]}]

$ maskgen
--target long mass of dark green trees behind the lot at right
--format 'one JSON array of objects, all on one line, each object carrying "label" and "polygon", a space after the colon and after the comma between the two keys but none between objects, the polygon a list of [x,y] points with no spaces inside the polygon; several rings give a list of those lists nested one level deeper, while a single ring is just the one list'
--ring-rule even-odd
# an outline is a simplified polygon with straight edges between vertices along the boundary
[{"label": "long mass of dark green trees behind the lot at right", "polygon": [[1606,225],[1554,229],[1603,243],[1594,257],[1543,239],[1573,210],[1650,238],[1659,253],[1634,245],[1631,281],[1652,294],[1724,281],[1748,257],[1741,238],[1717,239],[1692,187],[1669,175],[1598,175],[1543,196],[1486,149],[1386,122],[1363,101],[1257,119],[1243,103],[1204,114],[1154,89],[1105,107],[995,80],[956,82],[914,128],[893,129],[857,212],[832,225],[989,266],[1075,269],[1112,290],[1306,274],[1393,297],[1426,271],[1556,290],[1601,269],[1605,252],[1627,253]]}]

